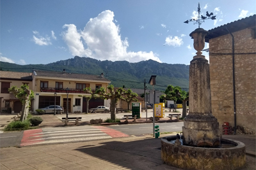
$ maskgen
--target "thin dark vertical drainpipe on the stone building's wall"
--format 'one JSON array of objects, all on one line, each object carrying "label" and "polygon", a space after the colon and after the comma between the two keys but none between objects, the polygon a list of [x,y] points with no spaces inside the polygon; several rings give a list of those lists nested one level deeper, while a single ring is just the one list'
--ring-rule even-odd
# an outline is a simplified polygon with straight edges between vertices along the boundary
[{"label": "thin dark vertical drainpipe on the stone building's wall", "polygon": [[235,86],[235,45],[234,45],[234,36],[226,27],[228,33],[232,36],[232,66],[233,66],[233,96],[234,96],[234,134],[236,134],[236,86]]}]

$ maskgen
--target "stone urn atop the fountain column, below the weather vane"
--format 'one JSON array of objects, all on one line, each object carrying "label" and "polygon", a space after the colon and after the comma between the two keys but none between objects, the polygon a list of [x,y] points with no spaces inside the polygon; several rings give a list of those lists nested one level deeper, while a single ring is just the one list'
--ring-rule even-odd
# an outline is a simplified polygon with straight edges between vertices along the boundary
[{"label": "stone urn atop the fountain column, below the weather vane", "polygon": [[195,31],[191,32],[189,36],[191,36],[194,39],[194,48],[197,51],[195,57],[203,57],[205,58],[204,55],[202,55],[202,50],[204,49],[204,41],[205,41],[205,36],[209,34],[208,31],[205,31],[202,28],[195,29]]}]

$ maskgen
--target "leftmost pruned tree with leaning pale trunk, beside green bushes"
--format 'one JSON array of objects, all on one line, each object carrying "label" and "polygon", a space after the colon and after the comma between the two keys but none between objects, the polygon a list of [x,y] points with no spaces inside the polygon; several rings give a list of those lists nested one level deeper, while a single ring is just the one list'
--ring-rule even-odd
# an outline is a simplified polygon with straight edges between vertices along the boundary
[{"label": "leftmost pruned tree with leaning pale trunk, beside green bushes", "polygon": [[34,98],[34,92],[32,90],[29,90],[29,87],[26,84],[20,86],[20,88],[12,86],[8,90],[15,97],[17,97],[20,100],[20,102],[22,103],[22,111],[21,111],[21,115],[20,115],[20,121],[23,122],[27,118],[31,99]]}]

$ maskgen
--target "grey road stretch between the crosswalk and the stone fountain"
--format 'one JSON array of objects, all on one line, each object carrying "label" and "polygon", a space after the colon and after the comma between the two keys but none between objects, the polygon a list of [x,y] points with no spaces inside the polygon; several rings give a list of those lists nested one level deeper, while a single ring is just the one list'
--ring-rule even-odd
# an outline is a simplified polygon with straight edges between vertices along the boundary
[{"label": "grey road stretch between the crosswalk and the stone fountain", "polygon": [[[160,132],[181,132],[183,122],[156,123],[155,125],[159,125]],[[130,136],[141,136],[153,133],[153,124],[109,125],[108,127]]]}]

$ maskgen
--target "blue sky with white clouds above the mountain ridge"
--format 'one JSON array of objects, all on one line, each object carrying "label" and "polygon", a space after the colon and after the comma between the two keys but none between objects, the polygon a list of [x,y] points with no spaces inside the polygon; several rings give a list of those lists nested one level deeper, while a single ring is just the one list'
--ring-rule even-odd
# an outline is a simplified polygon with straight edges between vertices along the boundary
[{"label": "blue sky with white clouds above the mountain ridge", "polygon": [[[1,0],[0,60],[48,64],[91,57],[97,60],[157,60],[189,64],[195,55],[189,34],[198,25],[184,24],[206,11],[205,30],[256,13],[255,0],[225,1],[89,1]],[[205,43],[205,48],[207,48]],[[208,54],[204,55],[209,58]]]}]

